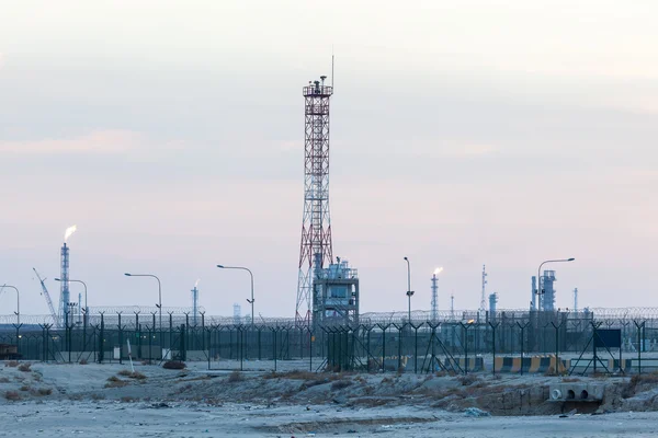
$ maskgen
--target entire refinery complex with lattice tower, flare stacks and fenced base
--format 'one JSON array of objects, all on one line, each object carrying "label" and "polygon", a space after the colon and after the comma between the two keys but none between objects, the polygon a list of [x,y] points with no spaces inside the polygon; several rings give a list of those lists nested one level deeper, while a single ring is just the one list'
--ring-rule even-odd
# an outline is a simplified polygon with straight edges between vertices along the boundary
[{"label": "entire refinery complex with lattice tower, flare stacks and fenced base", "polygon": [[[87,303],[87,285],[70,275],[75,255],[68,241],[77,229],[73,226],[65,232],[59,277],[54,279],[59,283],[57,306],[53,302],[46,278],[34,268],[49,314],[21,314],[16,289],[15,312],[12,314],[7,309],[0,310],[0,344],[16,345],[25,357],[54,360],[61,359],[65,356],[63,351],[68,351],[70,356],[71,351],[80,355],[90,354],[93,349],[94,360],[100,358],[102,361],[107,355],[121,360],[126,339],[132,338],[133,343],[139,345],[137,357],[148,355],[149,358],[163,359],[171,357],[172,351],[185,355],[181,351],[194,350],[203,351],[202,359],[209,361],[211,358],[227,354],[235,358],[245,354],[253,357],[256,350],[260,357],[269,348],[274,358],[321,355],[325,365],[338,361],[340,367],[356,367],[366,362],[368,369],[371,360],[376,361],[379,356],[382,360],[377,366],[385,367],[386,348],[389,351],[390,348],[397,348],[396,360],[399,360],[400,367],[404,353],[416,361],[422,354],[423,364],[428,357],[428,364],[435,364],[441,355],[450,358],[445,359],[449,362],[463,358],[464,362],[457,360],[451,362],[450,367],[460,368],[458,364],[462,364],[468,369],[469,351],[472,355],[481,355],[496,349],[508,353],[521,349],[522,355],[525,350],[544,354],[556,351],[557,356],[560,350],[581,349],[589,345],[592,331],[599,330],[603,321],[608,328],[623,331],[621,336],[628,350],[637,350],[640,344],[644,348],[647,339],[650,339],[650,330],[654,326],[658,330],[658,311],[653,309],[580,310],[578,289],[574,290],[572,309],[556,309],[556,270],[542,270],[542,267],[547,263],[572,262],[574,258],[543,262],[537,275],[531,277],[529,302],[514,310],[498,308],[500,295],[487,290],[489,273],[483,265],[481,289],[473,291],[474,296],[479,296],[477,310],[455,310],[454,295],[450,297],[450,311],[440,310],[440,274],[443,268],[436,268],[427,284],[430,299],[422,304],[429,311],[411,311],[413,291],[409,286],[406,291],[409,297],[408,310],[362,313],[358,269],[345,258],[336,256],[332,249],[329,159],[330,102],[334,89],[322,76],[308,82],[302,92],[304,199],[296,306],[292,318],[261,313],[256,316],[253,275],[245,267],[228,266],[226,268],[249,270],[251,275],[252,295],[251,299],[247,299],[251,304],[251,314],[248,316],[242,315],[239,303],[234,306],[232,315],[216,316],[208,313],[200,299],[198,280],[191,289],[189,308],[162,307],[161,296],[155,307],[90,308]],[[126,275],[154,277],[158,280],[161,293],[160,280],[156,276]],[[84,297],[82,293],[71,297],[71,283],[84,287]],[[13,285],[5,284],[0,286],[0,292],[12,288],[15,289]],[[31,343],[30,339],[34,341]],[[390,346],[390,339],[397,344]],[[229,353],[223,349],[227,348],[226,345],[230,346]],[[147,354],[141,353],[143,347]],[[418,369],[418,364],[415,365]]]}]

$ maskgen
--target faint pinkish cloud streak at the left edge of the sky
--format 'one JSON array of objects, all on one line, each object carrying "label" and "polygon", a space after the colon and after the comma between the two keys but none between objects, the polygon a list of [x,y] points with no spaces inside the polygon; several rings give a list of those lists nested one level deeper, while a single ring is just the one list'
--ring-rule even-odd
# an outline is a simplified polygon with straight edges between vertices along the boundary
[{"label": "faint pinkish cloud streak at the left edge of the sky", "polygon": [[0,140],[0,154],[122,154],[144,141],[144,137],[134,131],[95,130],[63,139]]}]

